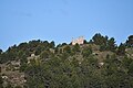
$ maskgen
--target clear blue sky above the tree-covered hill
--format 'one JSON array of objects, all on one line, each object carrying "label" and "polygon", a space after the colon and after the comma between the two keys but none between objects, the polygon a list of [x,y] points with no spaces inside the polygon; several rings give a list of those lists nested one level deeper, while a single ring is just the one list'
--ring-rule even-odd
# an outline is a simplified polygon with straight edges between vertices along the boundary
[{"label": "clear blue sky above the tree-covered hill", "polygon": [[70,43],[95,33],[125,42],[133,0],[0,0],[0,48],[31,40]]}]

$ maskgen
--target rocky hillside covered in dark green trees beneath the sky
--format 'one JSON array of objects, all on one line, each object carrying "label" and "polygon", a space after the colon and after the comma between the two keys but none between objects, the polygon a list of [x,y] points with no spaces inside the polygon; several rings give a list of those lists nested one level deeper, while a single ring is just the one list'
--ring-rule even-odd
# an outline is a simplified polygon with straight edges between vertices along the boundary
[{"label": "rocky hillside covered in dark green trees beneath the sky", "polygon": [[133,35],[83,44],[30,41],[0,52],[0,88],[133,88]]}]

